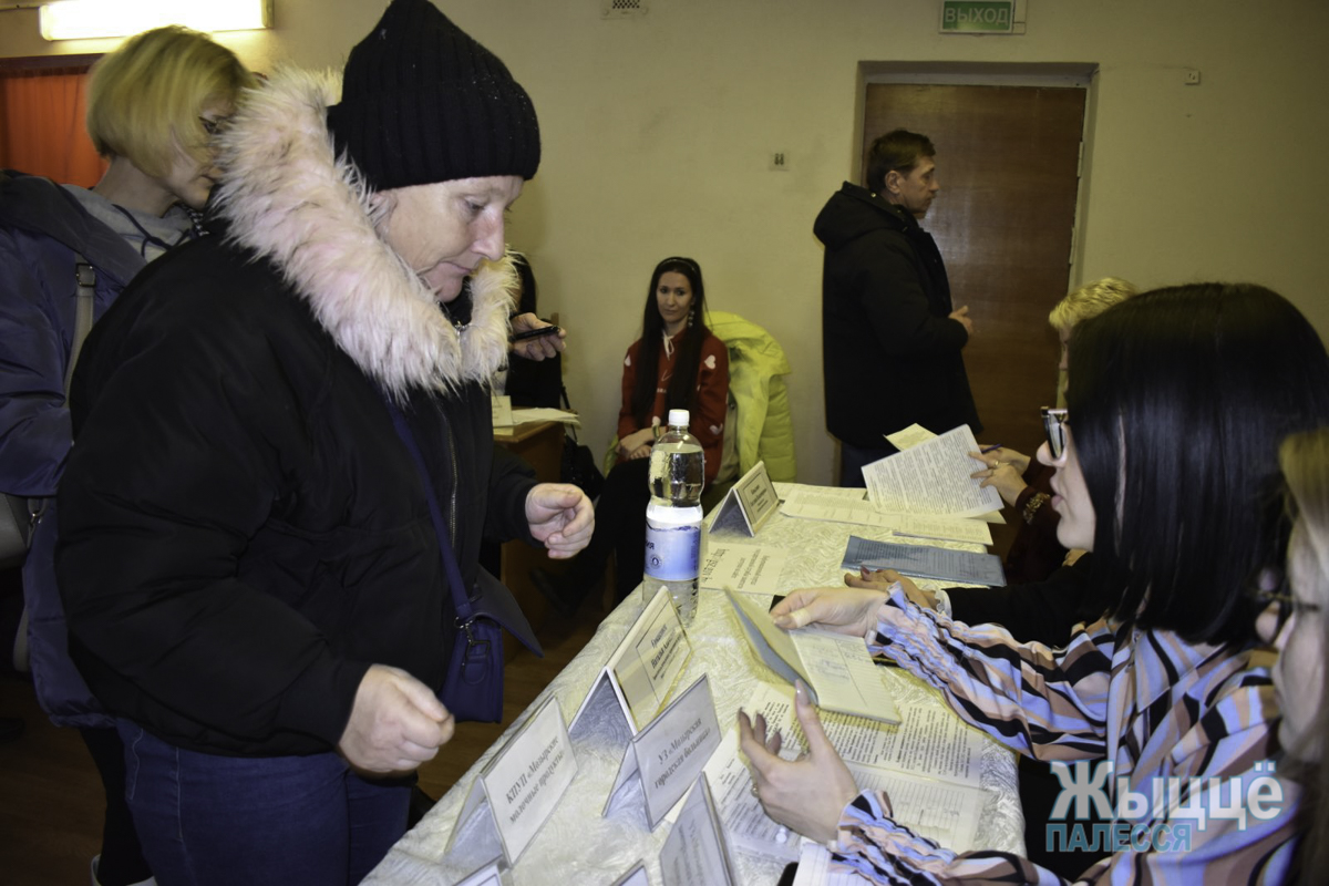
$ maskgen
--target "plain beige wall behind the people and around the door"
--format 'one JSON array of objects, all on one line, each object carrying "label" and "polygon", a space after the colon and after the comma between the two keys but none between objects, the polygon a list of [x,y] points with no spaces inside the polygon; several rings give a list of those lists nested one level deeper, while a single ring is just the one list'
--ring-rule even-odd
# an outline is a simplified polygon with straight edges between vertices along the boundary
[{"label": "plain beige wall behind the people and around the door", "polygon": [[[263,69],[340,64],[380,8],[275,3],[274,32],[222,37]],[[599,0],[440,3],[540,112],[545,159],[509,239],[532,254],[541,307],[570,329],[569,392],[595,448],[613,432],[651,267],[684,254],[700,262],[714,308],[784,344],[800,480],[831,480],[811,227],[853,167],[860,61],[1096,62],[1073,282],[1256,280],[1329,332],[1329,244],[1317,234],[1329,197],[1325,4],[1027,0],[1027,33],[1015,37],[940,36],[934,0],[649,5],[641,19],[602,20]],[[0,24],[0,56],[51,52],[35,13]],[[1201,85],[1183,85],[1185,68]],[[789,171],[767,171],[775,150]]]}]

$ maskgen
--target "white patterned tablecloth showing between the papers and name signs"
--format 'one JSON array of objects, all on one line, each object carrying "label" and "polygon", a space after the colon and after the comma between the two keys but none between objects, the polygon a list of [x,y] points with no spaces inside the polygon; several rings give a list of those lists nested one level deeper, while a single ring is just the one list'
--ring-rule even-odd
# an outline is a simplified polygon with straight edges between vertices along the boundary
[{"label": "white patterned tablecloth showing between the papers and name signs", "polygon": [[[783,489],[784,485],[777,484],[776,487]],[[788,591],[813,584],[840,584],[843,573],[839,565],[851,534],[881,541],[906,543],[909,541],[865,526],[793,519],[781,514],[772,515],[758,538],[751,541],[777,546],[789,553],[780,579],[780,590]],[[722,537],[726,541],[738,541],[731,534]],[[936,545],[936,542],[928,543]],[[977,545],[948,546],[983,550]],[[926,587],[937,583],[920,582],[920,584]],[[591,681],[642,608],[641,591],[623,600],[599,626],[586,648],[504,732],[502,739],[439,800],[429,814],[392,847],[388,857],[364,882],[455,883],[488,861],[484,855],[489,853],[481,855],[474,851],[468,853],[468,847],[476,841],[468,841],[465,832],[459,845],[444,858],[444,849],[453,828],[460,825],[457,814],[472,782],[525,719],[550,695],[557,696],[563,720],[571,723]],[[747,640],[720,592],[702,590],[696,622],[690,627],[688,635],[692,643],[692,659],[678,685],[686,688],[702,673],[708,675],[720,727],[727,729],[734,724],[739,707],[750,696],[758,679],[758,669],[763,665],[748,651]],[[901,711],[910,705],[944,705],[934,691],[913,677],[894,668],[889,668],[888,673]],[[513,886],[542,886],[554,882],[575,882],[579,886],[607,885],[626,873],[637,859],[646,861],[653,883],[662,882],[657,858],[668,834],[668,822],[662,822],[651,832],[645,812],[601,817],[625,751],[619,741],[613,739],[607,729],[578,731],[578,739],[574,741],[577,778],[563,796],[558,810],[522,853],[516,867],[508,871]],[[447,749],[443,753],[447,753]],[[1017,792],[1015,757],[994,743],[987,743],[983,751],[983,789],[986,802],[977,845],[1023,853],[1023,817]],[[740,851],[734,851],[734,857],[742,883],[775,883],[784,866],[784,862]]]}]

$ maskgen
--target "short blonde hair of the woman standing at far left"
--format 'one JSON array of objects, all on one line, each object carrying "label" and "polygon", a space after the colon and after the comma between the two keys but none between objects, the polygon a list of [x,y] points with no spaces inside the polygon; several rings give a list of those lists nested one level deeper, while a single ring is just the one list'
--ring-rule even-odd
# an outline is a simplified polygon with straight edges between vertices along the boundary
[{"label": "short blonde hair of the woman standing at far left", "polygon": [[235,53],[206,35],[175,25],[145,31],[93,65],[88,134],[102,157],[124,157],[159,178],[178,150],[203,161],[203,106],[234,104],[254,84]]}]

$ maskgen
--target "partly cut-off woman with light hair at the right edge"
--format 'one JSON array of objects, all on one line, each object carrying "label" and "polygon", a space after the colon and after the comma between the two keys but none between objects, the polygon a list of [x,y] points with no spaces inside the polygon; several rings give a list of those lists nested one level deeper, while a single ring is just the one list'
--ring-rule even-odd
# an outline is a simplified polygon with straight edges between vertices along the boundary
[{"label": "partly cut-off woman with light hair at the right edge", "polygon": [[1288,545],[1288,582],[1265,592],[1272,606],[1260,618],[1261,635],[1278,650],[1273,688],[1282,709],[1278,743],[1286,758],[1280,774],[1297,780],[1306,792],[1294,874],[1329,870],[1329,766],[1324,765],[1329,736],[1329,428],[1289,437],[1278,450],[1293,517]]}]

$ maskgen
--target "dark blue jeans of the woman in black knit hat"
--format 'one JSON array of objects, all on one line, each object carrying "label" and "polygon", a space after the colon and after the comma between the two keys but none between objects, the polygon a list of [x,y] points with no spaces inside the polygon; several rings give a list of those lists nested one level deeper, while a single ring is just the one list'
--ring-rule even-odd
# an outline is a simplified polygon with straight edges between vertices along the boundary
[{"label": "dark blue jeans of the woman in black knit hat", "polygon": [[408,778],[360,778],[335,753],[223,757],[117,723],[125,793],[162,886],[359,883],[407,829]]}]

